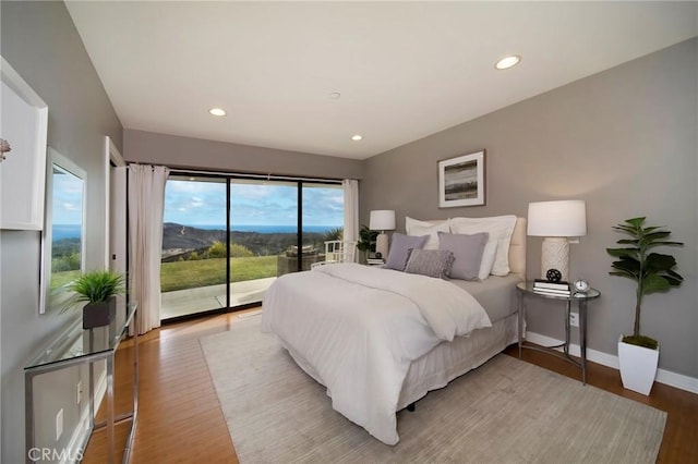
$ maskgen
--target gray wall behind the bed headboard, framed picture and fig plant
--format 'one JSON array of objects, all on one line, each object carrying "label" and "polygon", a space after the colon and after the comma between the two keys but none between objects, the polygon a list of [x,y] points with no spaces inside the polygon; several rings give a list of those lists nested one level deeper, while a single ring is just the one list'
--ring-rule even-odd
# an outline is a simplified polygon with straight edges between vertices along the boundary
[{"label": "gray wall behind the bed headboard, framed picture and fig plant", "polygon": [[[611,227],[647,216],[685,242],[671,253],[682,288],[646,297],[642,331],[661,343],[660,367],[698,377],[698,39],[574,82],[370,158],[361,219],[371,209],[405,216],[527,215],[529,202],[587,202],[588,234],[571,245],[570,274],[602,293],[590,304],[591,349],[616,354],[633,329],[633,282],[607,274]],[[516,72],[514,70],[513,72]],[[464,102],[467,105],[467,102]],[[436,162],[486,149],[486,206],[440,209]],[[527,273],[540,273],[541,239],[529,237]],[[564,338],[555,306],[539,303],[529,328]]]}]

